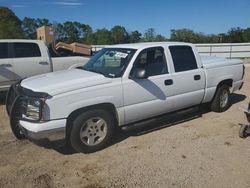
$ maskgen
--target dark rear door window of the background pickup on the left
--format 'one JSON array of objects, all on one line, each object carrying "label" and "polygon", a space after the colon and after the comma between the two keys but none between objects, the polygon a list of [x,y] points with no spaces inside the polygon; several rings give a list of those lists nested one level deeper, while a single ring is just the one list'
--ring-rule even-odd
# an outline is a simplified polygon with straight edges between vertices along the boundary
[{"label": "dark rear door window of the background pickup on the left", "polygon": [[14,58],[41,57],[41,51],[36,43],[15,42]]}]

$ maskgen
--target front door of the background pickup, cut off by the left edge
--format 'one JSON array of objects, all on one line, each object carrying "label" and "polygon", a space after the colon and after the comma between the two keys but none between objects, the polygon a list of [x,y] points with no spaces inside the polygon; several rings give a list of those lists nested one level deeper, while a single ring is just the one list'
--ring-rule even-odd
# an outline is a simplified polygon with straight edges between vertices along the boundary
[{"label": "front door of the background pickup, cut off by the left edge", "polygon": [[13,83],[15,77],[8,42],[0,43],[0,90]]}]

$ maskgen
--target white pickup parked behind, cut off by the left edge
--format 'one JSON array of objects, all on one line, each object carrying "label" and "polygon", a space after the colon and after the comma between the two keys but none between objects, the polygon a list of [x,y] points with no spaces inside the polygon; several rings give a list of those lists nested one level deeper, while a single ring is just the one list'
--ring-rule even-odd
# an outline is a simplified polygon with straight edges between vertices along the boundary
[{"label": "white pickup parked behind, cut off by the left edge", "polygon": [[84,65],[86,57],[50,58],[40,40],[0,40],[0,91],[30,76]]}]

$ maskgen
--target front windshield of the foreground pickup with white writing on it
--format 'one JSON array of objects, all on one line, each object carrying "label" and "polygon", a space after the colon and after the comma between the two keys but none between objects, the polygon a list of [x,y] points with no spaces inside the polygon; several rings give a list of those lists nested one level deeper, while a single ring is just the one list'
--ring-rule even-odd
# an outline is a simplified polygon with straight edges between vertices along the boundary
[{"label": "front windshield of the foreground pickup with white writing on it", "polygon": [[110,78],[121,77],[135,51],[128,48],[104,48],[83,66],[83,70]]}]

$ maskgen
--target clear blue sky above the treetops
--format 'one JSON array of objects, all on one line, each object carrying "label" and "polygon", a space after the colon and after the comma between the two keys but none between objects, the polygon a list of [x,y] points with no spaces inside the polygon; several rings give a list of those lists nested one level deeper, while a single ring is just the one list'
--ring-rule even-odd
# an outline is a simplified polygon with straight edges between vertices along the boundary
[{"label": "clear blue sky above the treetops", "polygon": [[121,25],[144,33],[155,28],[166,37],[171,29],[219,34],[250,27],[250,0],[0,0],[0,6],[12,9],[20,19],[78,21],[94,30]]}]

